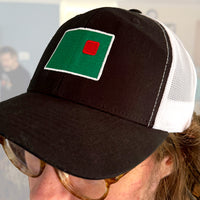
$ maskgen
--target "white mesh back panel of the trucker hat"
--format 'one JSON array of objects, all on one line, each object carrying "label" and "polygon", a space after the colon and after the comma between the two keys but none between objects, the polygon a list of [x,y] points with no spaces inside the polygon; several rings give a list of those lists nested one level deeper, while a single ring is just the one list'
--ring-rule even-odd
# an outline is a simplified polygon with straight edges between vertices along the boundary
[{"label": "white mesh back panel of the trucker hat", "polygon": [[196,92],[196,72],[183,44],[171,30],[164,24],[162,26],[170,38],[172,66],[153,128],[167,132],[182,132],[191,123]]}]

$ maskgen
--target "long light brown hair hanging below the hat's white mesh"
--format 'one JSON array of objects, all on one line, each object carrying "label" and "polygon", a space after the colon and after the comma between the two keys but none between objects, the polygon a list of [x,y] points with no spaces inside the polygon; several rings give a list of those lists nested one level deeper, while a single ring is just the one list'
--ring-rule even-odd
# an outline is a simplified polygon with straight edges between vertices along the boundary
[{"label": "long light brown hair hanging below the hat's white mesh", "polygon": [[158,162],[165,156],[173,161],[173,172],[160,181],[155,200],[200,199],[200,116],[194,113],[183,133],[170,133],[154,156]]}]

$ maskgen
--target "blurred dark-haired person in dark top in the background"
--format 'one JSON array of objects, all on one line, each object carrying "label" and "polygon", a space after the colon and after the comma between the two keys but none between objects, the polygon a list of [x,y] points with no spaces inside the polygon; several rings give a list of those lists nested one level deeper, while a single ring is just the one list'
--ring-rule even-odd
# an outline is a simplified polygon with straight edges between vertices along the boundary
[{"label": "blurred dark-haired person in dark top in the background", "polygon": [[0,101],[26,91],[30,75],[18,60],[17,52],[9,46],[0,48]]}]

